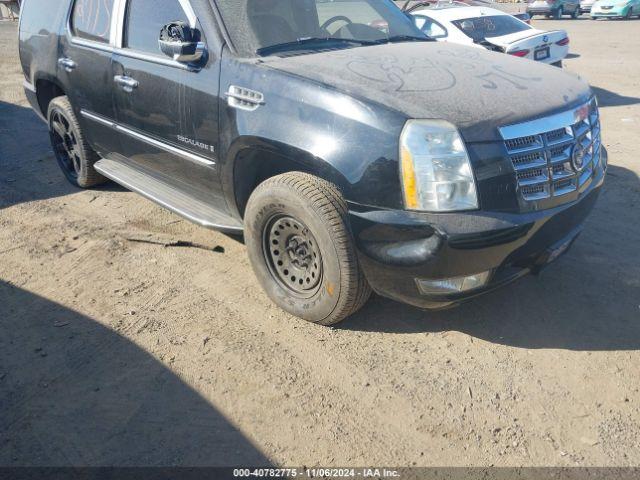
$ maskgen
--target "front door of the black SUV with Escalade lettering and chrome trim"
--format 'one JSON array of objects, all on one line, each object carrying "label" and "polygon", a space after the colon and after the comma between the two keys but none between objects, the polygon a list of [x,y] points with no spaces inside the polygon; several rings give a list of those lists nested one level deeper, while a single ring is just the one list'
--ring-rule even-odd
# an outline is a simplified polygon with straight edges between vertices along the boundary
[{"label": "front door of the black SUV with Escalade lettering and chrome trim", "polygon": [[[215,62],[191,68],[160,51],[163,26],[184,22],[197,26],[195,13],[185,0],[128,0],[124,12],[122,48],[113,57],[115,107],[122,153],[176,189],[188,191],[211,206],[221,206],[216,171],[218,75]],[[213,72],[213,73],[212,73]],[[206,78],[205,78],[206,77]],[[189,85],[202,84],[194,97]],[[212,128],[207,139],[196,139],[190,103],[208,107]],[[202,105],[199,106],[202,108]],[[211,123],[209,123],[211,127]]]}]

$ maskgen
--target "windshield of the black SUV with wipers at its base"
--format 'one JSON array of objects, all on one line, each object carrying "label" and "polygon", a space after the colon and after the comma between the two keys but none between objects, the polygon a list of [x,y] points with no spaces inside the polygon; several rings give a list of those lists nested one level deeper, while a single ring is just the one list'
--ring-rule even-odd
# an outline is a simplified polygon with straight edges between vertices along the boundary
[{"label": "windshield of the black SUV with wipers at its base", "polygon": [[243,56],[427,39],[391,0],[217,0],[216,5]]}]

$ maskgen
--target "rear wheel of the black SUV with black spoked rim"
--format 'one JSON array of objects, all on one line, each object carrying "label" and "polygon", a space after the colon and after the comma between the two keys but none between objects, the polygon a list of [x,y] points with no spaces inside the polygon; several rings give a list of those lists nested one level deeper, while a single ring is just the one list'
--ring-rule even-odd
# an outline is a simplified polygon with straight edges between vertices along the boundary
[{"label": "rear wheel of the black SUV with black spoked rim", "polygon": [[90,188],[105,183],[93,165],[100,159],[84,139],[67,97],[56,97],[47,111],[49,138],[60,169],[70,183]]}]

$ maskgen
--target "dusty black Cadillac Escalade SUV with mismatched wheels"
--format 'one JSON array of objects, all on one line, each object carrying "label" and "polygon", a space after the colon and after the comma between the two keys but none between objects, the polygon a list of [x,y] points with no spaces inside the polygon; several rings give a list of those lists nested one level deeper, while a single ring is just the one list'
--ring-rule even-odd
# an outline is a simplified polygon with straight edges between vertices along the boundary
[{"label": "dusty black Cadillac Escalade SUV with mismatched wheels", "polygon": [[80,187],[243,233],[269,296],[333,324],[536,272],[606,171],[589,86],[430,41],[391,0],[26,0],[25,91]]}]

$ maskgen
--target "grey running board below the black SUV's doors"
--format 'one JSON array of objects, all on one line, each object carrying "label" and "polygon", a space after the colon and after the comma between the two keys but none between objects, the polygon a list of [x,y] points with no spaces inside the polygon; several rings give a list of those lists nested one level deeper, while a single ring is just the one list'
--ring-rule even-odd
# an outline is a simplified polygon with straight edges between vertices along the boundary
[{"label": "grey running board below the black SUV's doors", "polygon": [[94,167],[127,190],[139,193],[193,223],[212,230],[242,233],[242,224],[236,219],[220,213],[203,201],[177,190],[144,170],[132,167],[124,160],[103,158],[98,160]]}]

